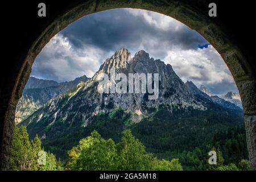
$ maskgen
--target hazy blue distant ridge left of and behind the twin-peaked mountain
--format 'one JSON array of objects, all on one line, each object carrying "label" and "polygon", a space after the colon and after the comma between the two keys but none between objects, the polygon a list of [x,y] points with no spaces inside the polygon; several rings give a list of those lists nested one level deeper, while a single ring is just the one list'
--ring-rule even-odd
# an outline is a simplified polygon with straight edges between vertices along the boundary
[{"label": "hazy blue distant ridge left of and behind the twin-peaked mountain", "polygon": [[85,75],[73,81],[61,83],[30,77],[16,106],[15,123],[19,123],[27,118],[28,115],[34,113],[34,111],[52,98],[75,88],[79,82],[86,82],[87,80],[89,78]]}]

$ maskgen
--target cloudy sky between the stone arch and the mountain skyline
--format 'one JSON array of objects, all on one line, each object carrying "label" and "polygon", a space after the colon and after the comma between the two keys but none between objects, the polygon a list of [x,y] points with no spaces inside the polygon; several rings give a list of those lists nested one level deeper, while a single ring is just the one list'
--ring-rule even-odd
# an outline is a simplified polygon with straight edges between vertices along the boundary
[{"label": "cloudy sky between the stone arch and the mountain skyline", "polygon": [[[140,50],[171,64],[186,82],[205,85],[212,94],[238,92],[213,46],[185,24],[152,11],[113,9],[84,16],[55,35],[36,57],[31,76],[57,82],[92,77],[120,48]],[[199,47],[205,48],[199,48]]]}]

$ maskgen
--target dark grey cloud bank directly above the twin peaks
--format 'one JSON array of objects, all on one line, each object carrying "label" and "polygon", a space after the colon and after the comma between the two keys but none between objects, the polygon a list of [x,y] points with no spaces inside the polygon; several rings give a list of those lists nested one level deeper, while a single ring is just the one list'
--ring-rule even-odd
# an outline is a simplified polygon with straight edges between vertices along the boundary
[{"label": "dark grey cloud bank directly above the twin peaks", "polygon": [[[170,19],[167,16],[155,15],[156,13],[150,11],[133,14],[133,11],[142,10],[114,9],[91,14],[65,28],[61,34],[68,37],[76,48],[89,44],[107,52],[114,52],[121,47],[137,52],[143,44],[152,56],[157,56],[159,59],[163,59],[166,51],[174,47],[197,49],[199,44],[207,43],[196,31],[192,31],[180,22],[175,20],[166,22],[172,23],[172,27],[163,28],[164,24],[152,24],[142,13],[147,12],[155,22],[163,17]],[[154,43],[150,41],[151,39]]]}]

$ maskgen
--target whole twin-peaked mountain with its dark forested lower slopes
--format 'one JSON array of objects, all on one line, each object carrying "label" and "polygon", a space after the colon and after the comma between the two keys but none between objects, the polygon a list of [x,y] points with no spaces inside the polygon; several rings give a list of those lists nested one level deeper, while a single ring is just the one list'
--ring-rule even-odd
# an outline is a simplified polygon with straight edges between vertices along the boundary
[{"label": "whole twin-peaked mountain with its dark forested lower slopes", "polygon": [[[123,73],[126,76],[129,73],[158,73],[158,99],[148,100],[148,93],[99,93],[98,75],[105,73],[110,77],[112,68],[116,74]],[[133,87],[134,84],[133,82]],[[127,84],[127,89],[129,86],[131,85]],[[118,139],[123,129],[136,128],[140,123],[143,126],[148,125],[148,129],[144,131],[137,128],[138,132],[153,135],[167,132],[167,129],[167,133],[175,129],[183,130],[180,127],[183,122],[186,132],[191,133],[191,127],[196,122],[200,127],[193,129],[193,136],[199,136],[194,135],[195,131],[207,133],[211,137],[216,131],[215,125],[219,127],[222,124],[242,122],[242,110],[228,101],[223,101],[228,106],[201,92],[193,82],[184,84],[170,64],[150,58],[145,51],[139,51],[131,57],[130,52],[122,48],[106,59],[88,81],[80,82],[75,88],[52,98],[19,125],[27,126],[31,138],[39,134],[47,150],[64,155],[65,151],[94,129],[100,130],[103,136]],[[151,133],[154,130],[151,127],[154,127],[156,120],[157,125],[161,125],[158,128],[166,130]],[[175,128],[172,127],[174,123]],[[200,137],[201,140],[203,138]]]}]

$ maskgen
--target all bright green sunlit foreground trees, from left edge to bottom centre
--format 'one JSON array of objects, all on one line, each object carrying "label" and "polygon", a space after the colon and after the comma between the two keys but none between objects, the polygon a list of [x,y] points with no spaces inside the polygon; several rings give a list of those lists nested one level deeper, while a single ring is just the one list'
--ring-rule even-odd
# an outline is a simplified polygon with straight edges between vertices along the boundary
[{"label": "all bright green sunlit foreground trees, from left edge to bottom centre", "polygon": [[[55,155],[44,152],[38,136],[28,139],[26,127],[15,128],[10,158],[12,170],[167,170],[181,171],[179,159],[158,160],[130,130],[122,133],[121,142],[104,139],[97,131],[81,139],[79,145],[68,151],[67,163],[56,160]],[[42,152],[45,154],[43,163]]]}]

